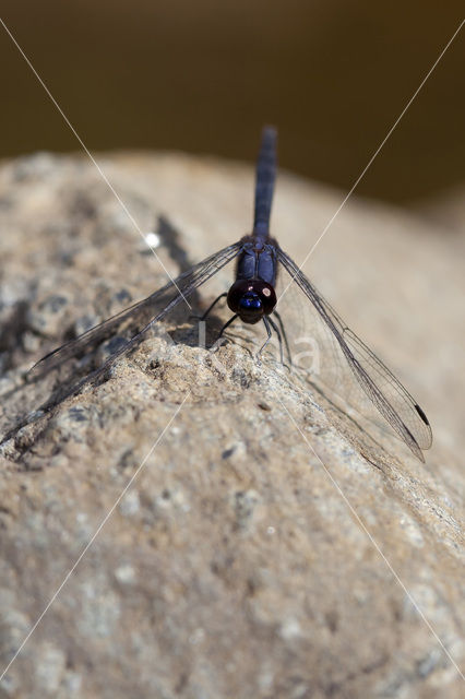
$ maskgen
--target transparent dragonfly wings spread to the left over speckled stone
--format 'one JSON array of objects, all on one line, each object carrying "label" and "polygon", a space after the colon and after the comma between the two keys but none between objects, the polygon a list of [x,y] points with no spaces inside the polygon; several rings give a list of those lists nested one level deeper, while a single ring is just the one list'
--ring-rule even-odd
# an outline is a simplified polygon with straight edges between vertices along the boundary
[{"label": "transparent dragonfly wings spread to the left over speckled stone", "polygon": [[[118,357],[133,350],[142,340],[145,333],[156,322],[162,320],[175,306],[186,300],[193,292],[210,280],[216,272],[230,262],[239,252],[241,242],[236,242],[223,248],[215,254],[210,256],[199,264],[178,276],[166,286],[151,294],[143,300],[134,304],[130,308],[108,318],[100,324],[87,330],[75,340],[53,350],[43,357],[31,369],[33,376],[43,375],[50,369],[58,367],[63,362],[75,357],[83,352],[94,347],[102,340],[112,334],[123,324],[138,325],[145,322],[144,327],[136,332],[130,340],[119,347],[100,367],[88,374],[84,379],[60,393],[60,400],[78,392],[85,383],[96,379],[104,372]],[[46,410],[53,401],[41,406]]]}]

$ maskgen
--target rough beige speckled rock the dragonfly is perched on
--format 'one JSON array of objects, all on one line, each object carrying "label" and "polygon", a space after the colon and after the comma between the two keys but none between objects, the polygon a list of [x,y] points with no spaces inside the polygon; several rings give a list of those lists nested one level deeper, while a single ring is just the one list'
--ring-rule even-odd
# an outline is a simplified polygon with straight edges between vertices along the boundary
[{"label": "rough beige speckled rock the dragonfly is perched on", "polygon": [[[250,227],[245,166],[102,165],[172,275]],[[273,226],[298,262],[342,199],[282,174]],[[463,697],[438,638],[463,667],[464,237],[354,198],[306,265],[426,408],[421,464],[250,343],[196,346],[178,317],[176,343],[148,336],[11,433],[69,380],[25,383],[33,362],[166,275],[84,158],[5,163],[0,216],[3,666],[52,601],[0,696]]]}]

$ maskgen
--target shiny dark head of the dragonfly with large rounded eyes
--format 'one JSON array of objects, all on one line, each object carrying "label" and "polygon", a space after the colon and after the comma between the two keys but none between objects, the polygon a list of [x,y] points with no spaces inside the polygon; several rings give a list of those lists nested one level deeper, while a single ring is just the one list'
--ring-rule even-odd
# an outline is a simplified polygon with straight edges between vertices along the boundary
[{"label": "shiny dark head of the dragonfly with large rounded eyes", "polygon": [[257,323],[276,306],[271,284],[260,280],[237,280],[228,292],[228,306],[245,323]]}]

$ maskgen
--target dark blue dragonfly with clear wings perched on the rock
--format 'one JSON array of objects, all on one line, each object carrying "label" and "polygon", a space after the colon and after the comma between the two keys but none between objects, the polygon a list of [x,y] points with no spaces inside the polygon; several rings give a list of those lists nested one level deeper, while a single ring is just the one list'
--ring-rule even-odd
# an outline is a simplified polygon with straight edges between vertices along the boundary
[{"label": "dark blue dragonfly with clear wings perched on the rock", "polygon": [[[425,461],[422,450],[429,449],[431,446],[432,431],[422,408],[392,371],[348,328],[296,262],[270,235],[277,171],[276,141],[276,129],[265,127],[262,132],[255,168],[254,221],[250,235],[246,235],[237,242],[208,256],[146,298],[53,350],[43,357],[31,372],[32,375],[41,375],[68,359],[85,354],[91,347],[115,334],[123,323],[129,322],[131,325],[135,325],[138,328],[135,334],[120,344],[102,366],[65,390],[61,400],[79,392],[83,386],[95,381],[103,375],[119,357],[127,355],[138,346],[148,331],[166,319],[175,307],[187,301],[196,289],[228,263],[235,261],[236,275],[233,285],[227,292],[217,296],[202,319],[213,311],[222,298],[226,298],[233,315],[223,325],[219,334],[222,335],[238,319],[247,325],[262,322],[266,331],[266,340],[259,356],[262,355],[272,334],[275,333],[279,343],[282,360],[284,343],[291,364],[293,357],[285,323],[276,308],[278,305],[276,282],[282,272],[287,274],[288,286],[297,288],[303,299],[303,310],[310,309],[312,311],[313,322],[320,325],[320,330],[324,331],[326,337],[331,339],[333,354],[330,353],[325,357],[326,363],[333,362],[332,357],[336,351],[337,358],[334,366],[337,364],[339,368],[343,368],[346,379],[348,376],[351,384],[355,384],[363,399],[368,400],[377,416],[381,417],[384,424],[391,426],[395,435],[407,445],[418,459]],[[338,380],[337,384],[341,387],[343,381]]]}]

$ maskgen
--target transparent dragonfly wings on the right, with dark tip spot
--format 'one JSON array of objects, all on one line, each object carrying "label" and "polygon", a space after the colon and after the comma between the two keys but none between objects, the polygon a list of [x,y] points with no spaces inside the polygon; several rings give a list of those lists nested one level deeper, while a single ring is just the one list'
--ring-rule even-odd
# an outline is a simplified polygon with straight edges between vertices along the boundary
[{"label": "transparent dragonfly wings on the right, with dark tip spot", "polygon": [[[281,249],[277,254],[282,265],[312,304],[326,331],[330,331],[335,363],[342,355],[363,394],[415,455],[424,461],[421,449],[429,449],[432,433],[421,407],[392,371],[344,323],[289,256]],[[341,376],[337,375],[337,367],[335,376]]]}]

